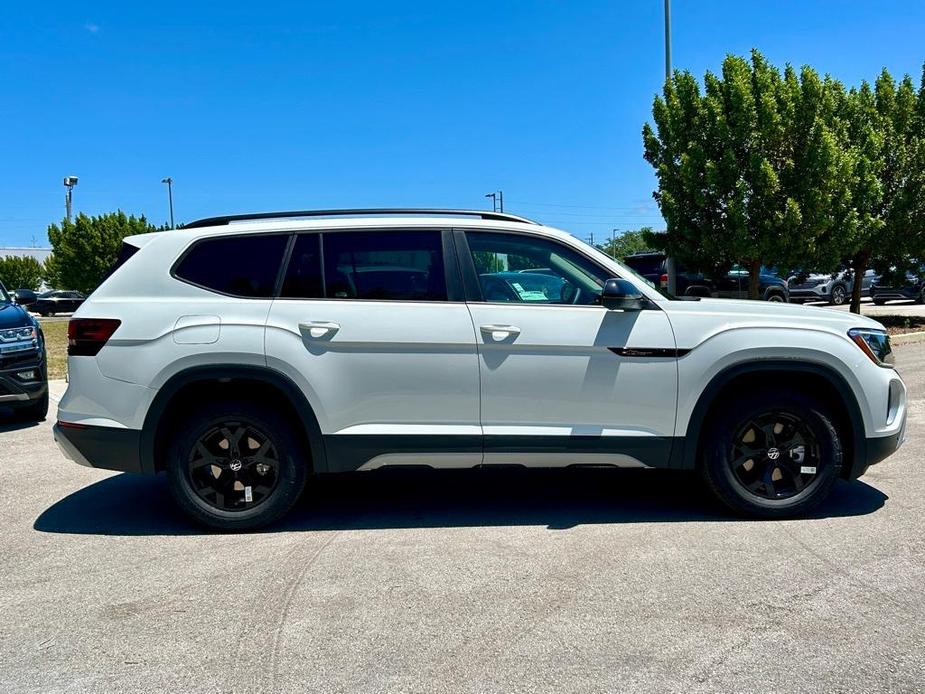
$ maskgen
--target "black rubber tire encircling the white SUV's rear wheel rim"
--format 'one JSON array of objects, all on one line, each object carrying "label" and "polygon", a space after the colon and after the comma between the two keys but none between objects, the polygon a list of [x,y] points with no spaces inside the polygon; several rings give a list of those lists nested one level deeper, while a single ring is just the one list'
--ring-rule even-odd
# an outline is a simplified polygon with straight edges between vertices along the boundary
[{"label": "black rubber tire encircling the white SUV's rear wheel rim", "polygon": [[[218,509],[199,497],[187,468],[189,453],[208,430],[232,421],[247,422],[264,432],[279,455],[279,479],[270,496],[244,511]],[[247,403],[227,403],[203,408],[175,434],[169,449],[167,475],[177,503],[198,522],[219,530],[263,527],[282,517],[298,501],[307,478],[306,457],[285,420],[264,414]]]}]

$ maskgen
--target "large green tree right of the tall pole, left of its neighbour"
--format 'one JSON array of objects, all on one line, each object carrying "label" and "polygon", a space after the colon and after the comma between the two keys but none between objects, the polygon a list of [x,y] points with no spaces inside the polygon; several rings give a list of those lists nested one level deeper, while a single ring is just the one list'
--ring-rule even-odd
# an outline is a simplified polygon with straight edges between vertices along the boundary
[{"label": "large green tree right of the tall pole, left of its neighbour", "polygon": [[655,127],[643,128],[665,250],[693,266],[740,263],[751,298],[763,264],[795,265],[821,248],[834,264],[819,241],[852,219],[851,160],[835,120],[843,93],[808,67],[781,75],[757,50],[707,72],[702,93],[676,72],[655,98]]}]

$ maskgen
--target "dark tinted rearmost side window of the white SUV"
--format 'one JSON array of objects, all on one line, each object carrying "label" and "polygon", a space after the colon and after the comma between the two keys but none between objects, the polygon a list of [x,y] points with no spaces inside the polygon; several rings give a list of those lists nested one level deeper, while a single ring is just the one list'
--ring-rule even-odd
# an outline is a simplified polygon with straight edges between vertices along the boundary
[{"label": "dark tinted rearmost side window of the white SUV", "polygon": [[288,240],[287,235],[262,234],[200,241],[180,261],[175,274],[223,294],[269,297]]}]

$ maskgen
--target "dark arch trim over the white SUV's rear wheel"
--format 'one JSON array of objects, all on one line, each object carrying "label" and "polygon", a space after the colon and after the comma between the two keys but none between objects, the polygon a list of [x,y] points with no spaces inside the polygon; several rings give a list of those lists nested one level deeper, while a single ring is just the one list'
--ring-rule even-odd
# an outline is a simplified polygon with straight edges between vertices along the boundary
[{"label": "dark arch trim over the white SUV's rear wheel", "polygon": [[327,456],[318,418],[315,416],[315,412],[308,403],[305,394],[288,376],[267,366],[210,364],[208,366],[193,366],[179,371],[167,379],[158,390],[145,415],[144,425],[141,430],[140,457],[142,471],[147,473],[157,471],[154,459],[157,428],[167,409],[167,405],[182,388],[199,381],[236,378],[263,381],[285,394],[293,411],[302,423],[305,437],[308,440],[314,471],[324,472],[327,470]]}]

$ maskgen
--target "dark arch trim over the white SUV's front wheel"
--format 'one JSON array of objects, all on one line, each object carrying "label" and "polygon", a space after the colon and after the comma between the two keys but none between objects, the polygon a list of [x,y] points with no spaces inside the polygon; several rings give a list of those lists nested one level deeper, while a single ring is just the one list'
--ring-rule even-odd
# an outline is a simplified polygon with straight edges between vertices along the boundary
[{"label": "dark arch trim over the white SUV's front wheel", "polygon": [[[697,467],[697,449],[700,441],[700,435],[703,432],[704,418],[710,405],[713,404],[719,392],[734,379],[746,374],[766,373],[766,372],[801,372],[821,376],[824,378],[835,391],[841,396],[845,409],[848,412],[848,419],[851,425],[851,441],[853,460],[845,461],[844,469],[846,472],[853,474],[856,472],[858,465],[865,465],[867,460],[867,438],[865,436],[864,418],[861,414],[861,408],[858,406],[857,398],[851,386],[845,378],[829,366],[815,364],[811,362],[793,362],[787,360],[767,360],[767,361],[749,361],[739,364],[733,364],[720,371],[707,384],[707,387],[700,393],[697,404],[691,412],[690,419],[687,423],[687,431],[684,436],[680,437],[681,450],[678,451],[675,460],[678,467],[685,470],[693,470]],[[673,456],[674,457],[674,456]]]}]

